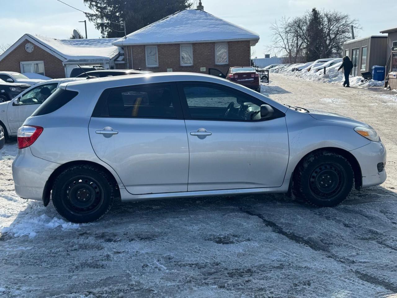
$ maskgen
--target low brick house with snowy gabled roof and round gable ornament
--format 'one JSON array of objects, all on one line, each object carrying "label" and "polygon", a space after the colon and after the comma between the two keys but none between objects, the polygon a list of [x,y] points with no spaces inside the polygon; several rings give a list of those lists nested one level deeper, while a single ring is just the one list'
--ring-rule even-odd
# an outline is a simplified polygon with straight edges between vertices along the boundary
[{"label": "low brick house with snowy gabled roof and round gable ornament", "polygon": [[77,64],[122,69],[123,50],[112,45],[117,40],[54,39],[25,34],[0,55],[0,70],[33,72],[55,79],[69,77]]}]

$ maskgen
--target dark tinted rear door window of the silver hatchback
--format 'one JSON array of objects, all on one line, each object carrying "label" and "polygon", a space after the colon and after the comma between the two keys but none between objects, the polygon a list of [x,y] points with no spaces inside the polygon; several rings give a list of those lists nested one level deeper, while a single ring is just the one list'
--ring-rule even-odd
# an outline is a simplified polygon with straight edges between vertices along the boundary
[{"label": "dark tinted rear door window of the silver hatchback", "polygon": [[177,118],[171,85],[116,89],[108,93],[100,115],[123,118]]}]

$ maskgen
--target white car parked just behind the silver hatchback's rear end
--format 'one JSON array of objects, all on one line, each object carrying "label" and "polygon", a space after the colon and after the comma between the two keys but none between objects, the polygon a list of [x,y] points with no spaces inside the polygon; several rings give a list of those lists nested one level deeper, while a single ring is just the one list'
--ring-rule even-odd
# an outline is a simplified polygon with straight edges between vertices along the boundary
[{"label": "white car parked just behind the silver hatchback's rear end", "polygon": [[15,99],[0,103],[0,132],[4,136],[16,136],[18,128],[62,83],[83,80],[82,78],[51,79],[34,85]]}]

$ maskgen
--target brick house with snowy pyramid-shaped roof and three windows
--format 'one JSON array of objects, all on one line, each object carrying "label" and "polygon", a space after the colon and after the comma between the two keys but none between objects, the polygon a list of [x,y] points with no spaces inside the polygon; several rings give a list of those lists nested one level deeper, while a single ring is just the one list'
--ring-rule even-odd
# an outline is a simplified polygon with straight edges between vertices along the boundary
[{"label": "brick house with snowy pyramid-shaped roof and three windows", "polygon": [[251,65],[251,46],[259,35],[212,14],[182,10],[156,21],[113,45],[123,47],[128,69],[152,72],[203,72]]}]

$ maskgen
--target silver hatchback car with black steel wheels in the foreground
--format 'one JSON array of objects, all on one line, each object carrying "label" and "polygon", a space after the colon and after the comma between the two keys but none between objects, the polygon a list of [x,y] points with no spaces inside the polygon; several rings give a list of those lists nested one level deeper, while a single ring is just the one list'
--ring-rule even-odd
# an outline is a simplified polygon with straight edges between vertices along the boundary
[{"label": "silver hatchback car with black steel wheels in the foreground", "polygon": [[116,199],[287,193],[335,206],[386,179],[386,149],[351,118],[193,73],[60,85],[18,131],[16,193],[77,223]]}]

